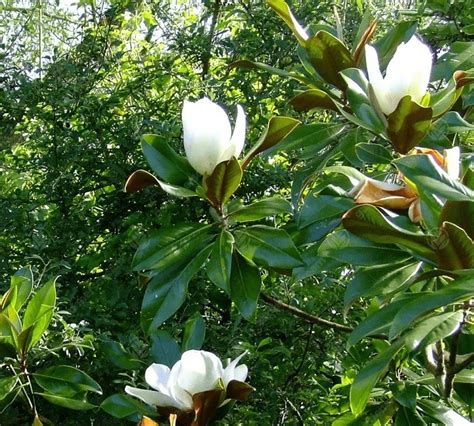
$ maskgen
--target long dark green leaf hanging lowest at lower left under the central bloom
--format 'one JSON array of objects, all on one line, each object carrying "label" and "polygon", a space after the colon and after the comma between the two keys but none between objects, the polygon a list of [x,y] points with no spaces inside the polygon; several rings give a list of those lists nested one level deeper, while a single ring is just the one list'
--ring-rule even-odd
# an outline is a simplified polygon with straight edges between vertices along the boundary
[{"label": "long dark green leaf hanging lowest at lower left under the central bloom", "polygon": [[208,245],[186,264],[159,270],[148,283],[143,296],[141,322],[147,333],[153,332],[170,318],[183,304],[188,283],[209,257]]}]

